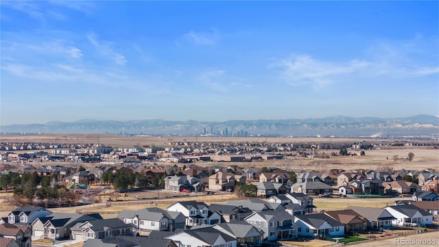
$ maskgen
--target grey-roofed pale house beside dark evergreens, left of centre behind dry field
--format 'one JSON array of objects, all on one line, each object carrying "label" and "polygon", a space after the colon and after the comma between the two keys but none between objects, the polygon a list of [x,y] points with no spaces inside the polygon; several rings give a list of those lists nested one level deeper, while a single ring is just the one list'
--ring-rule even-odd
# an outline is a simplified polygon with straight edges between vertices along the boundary
[{"label": "grey-roofed pale house beside dark evergreens, left of centre behind dry field", "polygon": [[165,178],[165,189],[169,191],[192,192],[203,191],[200,180],[193,176],[167,176]]}]

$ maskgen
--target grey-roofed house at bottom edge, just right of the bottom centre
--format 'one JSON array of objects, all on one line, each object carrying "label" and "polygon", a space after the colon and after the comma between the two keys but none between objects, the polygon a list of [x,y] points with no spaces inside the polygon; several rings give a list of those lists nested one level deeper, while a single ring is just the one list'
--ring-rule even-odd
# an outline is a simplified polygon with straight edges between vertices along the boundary
[{"label": "grey-roofed house at bottom edge, just right of the bottom centre", "polygon": [[263,232],[247,222],[215,224],[213,228],[236,239],[241,246],[261,246]]}]

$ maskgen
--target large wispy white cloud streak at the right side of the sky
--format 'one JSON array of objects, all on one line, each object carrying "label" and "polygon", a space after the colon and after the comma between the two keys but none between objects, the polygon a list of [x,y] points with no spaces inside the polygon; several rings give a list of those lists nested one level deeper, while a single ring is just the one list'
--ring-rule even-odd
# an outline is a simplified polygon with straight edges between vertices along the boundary
[{"label": "large wispy white cloud streak at the right side of the sky", "polygon": [[[292,86],[309,86],[319,90],[334,83],[370,80],[371,78],[414,78],[438,75],[438,38],[422,38],[405,43],[379,43],[366,50],[366,58],[319,60],[301,54],[274,59],[268,68]],[[437,44],[437,43],[436,43]]]}]

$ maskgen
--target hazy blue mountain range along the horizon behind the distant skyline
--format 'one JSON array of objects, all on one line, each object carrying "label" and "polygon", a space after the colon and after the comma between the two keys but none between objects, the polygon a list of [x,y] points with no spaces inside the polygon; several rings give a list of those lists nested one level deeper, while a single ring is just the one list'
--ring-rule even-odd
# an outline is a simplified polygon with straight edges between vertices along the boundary
[{"label": "hazy blue mountain range along the horizon behind the distant skyline", "polygon": [[228,136],[287,135],[311,137],[401,137],[439,134],[439,117],[345,117],[333,116],[309,119],[230,120],[230,121],[169,121],[151,120],[95,120],[73,122],[51,121],[47,124],[12,124],[0,126],[2,133],[110,133],[110,134],[215,134]]}]

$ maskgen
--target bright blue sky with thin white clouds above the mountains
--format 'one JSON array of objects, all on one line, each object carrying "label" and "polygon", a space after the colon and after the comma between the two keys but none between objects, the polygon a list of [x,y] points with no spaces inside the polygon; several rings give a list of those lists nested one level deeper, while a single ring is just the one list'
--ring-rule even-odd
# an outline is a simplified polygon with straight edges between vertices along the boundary
[{"label": "bright blue sky with thin white clouds above the mountains", "polygon": [[438,1],[1,1],[1,125],[439,115]]}]

